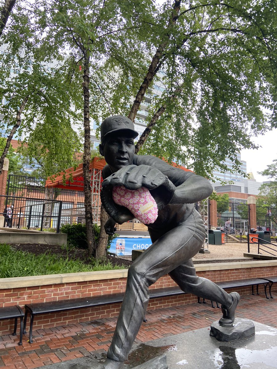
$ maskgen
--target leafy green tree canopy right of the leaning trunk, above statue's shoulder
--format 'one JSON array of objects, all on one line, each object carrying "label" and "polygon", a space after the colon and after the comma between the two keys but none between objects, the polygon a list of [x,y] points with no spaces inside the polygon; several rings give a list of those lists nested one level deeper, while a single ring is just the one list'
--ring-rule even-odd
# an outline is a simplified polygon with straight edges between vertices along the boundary
[{"label": "leafy green tree canopy right of the leaning trunk, above statue's shoulder", "polygon": [[228,170],[229,158],[245,175],[236,153],[257,148],[249,130],[276,125],[276,21],[270,1],[181,6],[163,65],[166,90],[150,109],[140,152],[175,157],[208,177],[215,166]]}]

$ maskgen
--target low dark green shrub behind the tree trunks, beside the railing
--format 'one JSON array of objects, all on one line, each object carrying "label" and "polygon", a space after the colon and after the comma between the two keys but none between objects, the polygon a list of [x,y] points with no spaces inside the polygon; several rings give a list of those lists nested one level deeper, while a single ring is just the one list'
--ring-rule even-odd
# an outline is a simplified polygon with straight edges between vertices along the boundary
[{"label": "low dark green shrub behind the tree trunks, beside the railing", "polygon": [[[95,242],[97,244],[100,227],[97,224],[93,224],[93,231],[95,235]],[[86,241],[86,224],[75,223],[75,224],[63,224],[60,228],[60,232],[67,234],[67,243],[74,247],[86,249],[88,247]],[[112,240],[116,238],[116,235],[109,236],[107,242],[107,250],[109,250]]]}]

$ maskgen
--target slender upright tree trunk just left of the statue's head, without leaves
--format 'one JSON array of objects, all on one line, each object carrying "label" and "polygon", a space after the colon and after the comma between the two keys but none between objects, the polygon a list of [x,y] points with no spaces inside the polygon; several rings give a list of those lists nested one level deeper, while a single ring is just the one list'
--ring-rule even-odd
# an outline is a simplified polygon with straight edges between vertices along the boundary
[{"label": "slender upright tree trunk just left of the statue's head, without leaves", "polygon": [[95,237],[92,227],[92,193],[90,164],[90,122],[89,122],[89,55],[84,51],[84,74],[83,74],[83,95],[84,95],[84,154],[83,154],[83,177],[85,195],[85,220],[86,237],[88,249],[91,256],[95,254]]}]

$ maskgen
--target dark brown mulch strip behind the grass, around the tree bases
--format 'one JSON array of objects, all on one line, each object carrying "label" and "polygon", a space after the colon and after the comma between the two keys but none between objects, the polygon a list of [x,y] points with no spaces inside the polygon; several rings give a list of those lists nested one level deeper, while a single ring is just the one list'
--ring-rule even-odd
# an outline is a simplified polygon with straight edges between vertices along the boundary
[{"label": "dark brown mulch strip behind the grass, around the tree bases", "polygon": [[[74,248],[66,250],[65,248],[57,245],[40,245],[40,244],[11,244],[11,246],[18,251],[20,250],[24,252],[30,252],[31,254],[34,255],[41,255],[47,252],[49,254],[57,255],[57,257],[68,258],[69,260],[79,259],[83,261],[85,264],[88,265],[91,264],[89,252],[88,250],[85,249]],[[116,256],[108,255],[107,258],[113,266],[118,265],[129,268],[129,266],[132,263],[129,260],[120,259],[117,258]]]}]

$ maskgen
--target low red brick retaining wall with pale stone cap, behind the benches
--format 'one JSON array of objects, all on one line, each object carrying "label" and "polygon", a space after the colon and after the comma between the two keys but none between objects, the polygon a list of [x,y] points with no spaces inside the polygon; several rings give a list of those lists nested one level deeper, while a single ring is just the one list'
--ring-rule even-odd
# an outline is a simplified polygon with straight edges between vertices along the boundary
[{"label": "low red brick retaining wall with pale stone cap, behind the benches", "polygon": [[[277,275],[277,261],[198,264],[195,268],[199,276],[206,277],[214,282]],[[18,304],[24,309],[25,304],[32,302],[38,303],[86,297],[92,294],[96,296],[124,292],[126,277],[127,270],[113,270],[0,279],[0,305],[10,306]],[[167,275],[160,278],[150,288],[170,286],[175,286],[175,282]],[[242,287],[236,290],[240,294],[251,293],[251,287]],[[260,287],[260,292],[264,293],[262,287]],[[151,299],[148,304],[148,310],[191,304],[196,301],[197,297],[192,294]],[[34,330],[114,317],[118,315],[119,310],[120,304],[116,303],[94,308],[39,315],[34,319]],[[13,324],[13,320],[0,321],[0,335],[10,334],[13,330]],[[29,322],[27,322],[27,332],[28,328]]]}]

